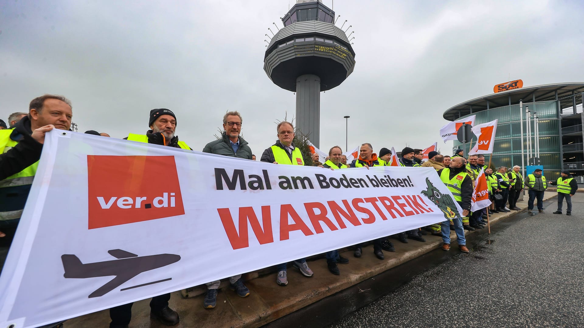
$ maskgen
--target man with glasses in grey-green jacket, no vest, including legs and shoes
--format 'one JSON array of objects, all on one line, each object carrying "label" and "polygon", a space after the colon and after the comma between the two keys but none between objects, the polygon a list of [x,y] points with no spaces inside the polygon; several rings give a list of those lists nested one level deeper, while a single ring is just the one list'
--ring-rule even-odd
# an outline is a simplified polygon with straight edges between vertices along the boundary
[{"label": "man with glasses in grey-green jacket, no vest, including legs and shoes", "polygon": [[[225,132],[221,135],[221,139],[209,142],[203,148],[203,152],[253,159],[252,150],[249,148],[248,142],[239,135],[241,132],[241,122],[241,114],[238,111],[228,111],[225,113],[223,116],[223,129]],[[241,297],[249,295],[249,289],[241,281],[241,274],[230,277],[229,282],[231,290],[237,292],[237,295]],[[220,280],[207,282],[207,295],[203,301],[204,308],[212,309],[215,307],[217,304],[217,290],[220,284]]]}]

